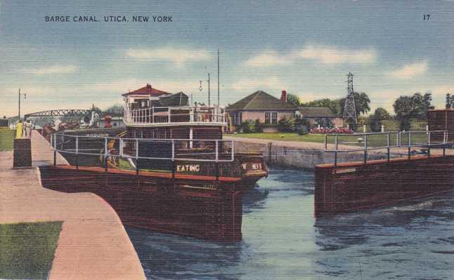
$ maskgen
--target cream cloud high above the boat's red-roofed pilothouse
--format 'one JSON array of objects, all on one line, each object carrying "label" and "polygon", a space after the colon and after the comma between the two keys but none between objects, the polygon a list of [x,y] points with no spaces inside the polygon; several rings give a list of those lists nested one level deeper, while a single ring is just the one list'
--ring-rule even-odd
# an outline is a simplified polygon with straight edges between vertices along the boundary
[{"label": "cream cloud high above the boat's red-roofed pilothouse", "polygon": [[212,54],[205,50],[182,48],[129,48],[125,51],[129,58],[137,60],[169,61],[176,67],[183,67],[188,62],[212,59]]}]

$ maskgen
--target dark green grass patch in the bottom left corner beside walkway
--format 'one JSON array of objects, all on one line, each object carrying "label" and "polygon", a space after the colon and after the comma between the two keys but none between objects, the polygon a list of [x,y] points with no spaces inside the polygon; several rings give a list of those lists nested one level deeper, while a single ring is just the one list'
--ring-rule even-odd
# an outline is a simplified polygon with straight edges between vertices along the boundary
[{"label": "dark green grass patch in the bottom left corner beside walkway", "polygon": [[0,279],[47,279],[62,222],[0,225]]}]

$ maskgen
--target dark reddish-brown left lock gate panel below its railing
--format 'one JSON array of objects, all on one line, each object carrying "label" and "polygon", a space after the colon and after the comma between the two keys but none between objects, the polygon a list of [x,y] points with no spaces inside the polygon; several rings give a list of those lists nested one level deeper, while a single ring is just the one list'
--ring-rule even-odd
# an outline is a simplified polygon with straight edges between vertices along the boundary
[{"label": "dark reddish-brown left lock gate panel below its railing", "polygon": [[242,192],[238,182],[157,178],[103,168],[47,166],[44,187],[93,192],[117,211],[124,225],[221,242],[242,239]]}]

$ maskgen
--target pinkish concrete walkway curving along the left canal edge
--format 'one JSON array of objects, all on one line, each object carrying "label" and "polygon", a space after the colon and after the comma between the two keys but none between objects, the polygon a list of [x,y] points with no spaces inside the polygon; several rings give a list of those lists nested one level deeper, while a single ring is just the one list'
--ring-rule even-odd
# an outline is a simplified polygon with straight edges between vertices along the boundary
[{"label": "pinkish concrete walkway curving along the left canal edge", "polygon": [[[51,146],[34,131],[34,168],[12,169],[0,152],[0,223],[63,221],[49,279],[145,279],[117,213],[99,196],[41,187],[37,166],[53,164]],[[57,156],[57,164],[65,164]]]}]

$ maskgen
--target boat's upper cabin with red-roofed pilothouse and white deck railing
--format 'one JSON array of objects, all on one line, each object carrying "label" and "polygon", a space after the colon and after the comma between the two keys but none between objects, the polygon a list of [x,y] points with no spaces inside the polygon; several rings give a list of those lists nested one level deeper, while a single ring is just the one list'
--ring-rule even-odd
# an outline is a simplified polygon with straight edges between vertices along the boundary
[{"label": "boat's upper cabin with red-roofed pilothouse and white deck railing", "polygon": [[132,138],[222,139],[226,116],[219,106],[193,106],[188,95],[160,91],[150,84],[124,93],[123,98],[124,123]]}]

